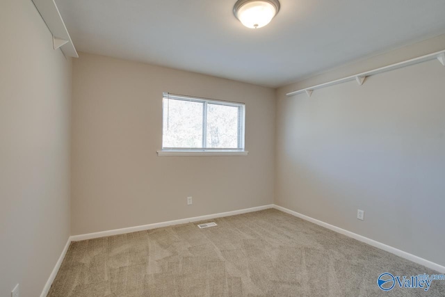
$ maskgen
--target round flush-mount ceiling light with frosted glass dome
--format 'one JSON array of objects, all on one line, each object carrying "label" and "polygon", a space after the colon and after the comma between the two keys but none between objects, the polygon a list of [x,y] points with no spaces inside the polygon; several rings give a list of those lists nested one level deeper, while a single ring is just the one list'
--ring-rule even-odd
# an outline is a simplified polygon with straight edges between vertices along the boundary
[{"label": "round flush-mount ceiling light with frosted glass dome", "polygon": [[252,29],[266,26],[280,11],[278,0],[238,0],[234,15],[240,22]]}]

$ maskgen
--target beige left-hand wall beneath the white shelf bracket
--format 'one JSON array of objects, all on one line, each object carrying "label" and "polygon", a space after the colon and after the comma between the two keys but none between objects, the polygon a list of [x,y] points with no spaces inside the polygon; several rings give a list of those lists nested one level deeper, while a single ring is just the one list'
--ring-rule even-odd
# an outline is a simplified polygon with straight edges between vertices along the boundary
[{"label": "beige left-hand wall beneath the white shelf bracket", "polygon": [[30,0],[0,1],[0,296],[40,296],[70,236],[71,61]]}]

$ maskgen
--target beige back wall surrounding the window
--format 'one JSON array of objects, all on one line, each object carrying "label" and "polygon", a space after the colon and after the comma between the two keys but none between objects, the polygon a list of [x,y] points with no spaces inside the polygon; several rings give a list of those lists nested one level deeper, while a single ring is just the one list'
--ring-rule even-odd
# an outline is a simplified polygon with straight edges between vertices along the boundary
[{"label": "beige back wall surrounding the window", "polygon": [[[163,92],[245,102],[248,156],[157,156]],[[81,54],[72,136],[73,235],[273,203],[273,89]]]}]

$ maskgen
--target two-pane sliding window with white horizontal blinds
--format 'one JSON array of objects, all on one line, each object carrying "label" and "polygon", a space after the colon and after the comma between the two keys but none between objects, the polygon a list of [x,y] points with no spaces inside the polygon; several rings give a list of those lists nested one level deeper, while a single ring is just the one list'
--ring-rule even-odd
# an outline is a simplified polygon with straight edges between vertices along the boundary
[{"label": "two-pane sliding window with white horizontal blinds", "polygon": [[161,152],[245,152],[245,105],[163,93]]}]

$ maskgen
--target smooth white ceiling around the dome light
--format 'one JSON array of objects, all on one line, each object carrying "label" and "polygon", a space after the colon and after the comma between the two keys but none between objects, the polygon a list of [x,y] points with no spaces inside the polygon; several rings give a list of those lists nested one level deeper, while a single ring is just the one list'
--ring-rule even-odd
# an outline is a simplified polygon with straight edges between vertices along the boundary
[{"label": "smooth white ceiling around the dome light", "polygon": [[236,0],[56,0],[78,51],[284,86],[445,33],[444,0],[280,0],[261,29]]}]

